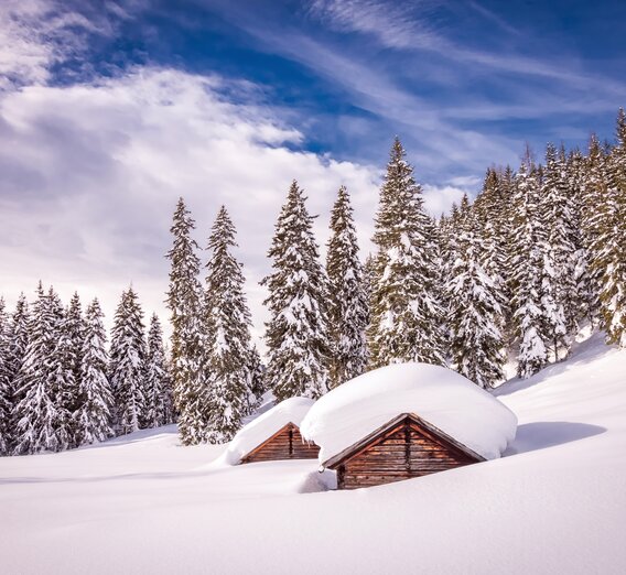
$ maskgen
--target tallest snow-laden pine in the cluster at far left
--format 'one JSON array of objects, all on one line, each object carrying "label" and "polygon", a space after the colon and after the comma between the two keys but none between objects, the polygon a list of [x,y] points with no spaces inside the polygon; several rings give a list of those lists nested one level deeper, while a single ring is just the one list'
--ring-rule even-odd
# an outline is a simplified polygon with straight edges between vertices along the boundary
[{"label": "tallest snow-laden pine in the cluster at far left", "polygon": [[61,324],[63,305],[51,289],[46,294],[40,282],[29,326],[29,344],[15,386],[20,402],[15,406],[15,454],[32,454],[67,448],[68,414],[62,372]]}]

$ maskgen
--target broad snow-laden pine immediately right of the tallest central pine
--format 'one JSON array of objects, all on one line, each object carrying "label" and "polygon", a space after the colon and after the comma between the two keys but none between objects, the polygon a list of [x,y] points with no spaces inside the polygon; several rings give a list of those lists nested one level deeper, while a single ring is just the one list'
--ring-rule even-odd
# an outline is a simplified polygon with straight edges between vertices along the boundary
[{"label": "broad snow-laden pine immediately right of the tallest central pine", "polygon": [[450,352],[456,371],[481,388],[492,388],[504,379],[504,294],[501,279],[489,275],[485,264],[493,254],[478,230],[472,210],[455,230],[455,258],[446,285]]}]

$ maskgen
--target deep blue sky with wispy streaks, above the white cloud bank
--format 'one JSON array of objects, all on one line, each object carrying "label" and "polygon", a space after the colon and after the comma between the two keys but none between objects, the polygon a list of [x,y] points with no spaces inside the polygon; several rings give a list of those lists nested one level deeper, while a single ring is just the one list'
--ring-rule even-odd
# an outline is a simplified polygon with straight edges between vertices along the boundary
[{"label": "deep blue sky with wispy streaks, above the white cloud bank", "polygon": [[[99,4],[75,8],[89,15]],[[57,82],[138,64],[245,79],[259,104],[284,109],[305,149],[381,164],[399,134],[433,184],[515,164],[525,141],[540,154],[548,141],[611,137],[626,94],[618,1],[128,6],[132,18],[115,36],[94,34]],[[85,62],[93,69],[77,78]]]}]

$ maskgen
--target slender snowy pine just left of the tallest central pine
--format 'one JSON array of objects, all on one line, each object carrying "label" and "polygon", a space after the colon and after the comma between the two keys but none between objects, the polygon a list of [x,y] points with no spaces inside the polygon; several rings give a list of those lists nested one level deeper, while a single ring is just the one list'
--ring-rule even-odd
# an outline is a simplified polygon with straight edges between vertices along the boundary
[{"label": "slender snowy pine just left of the tallest central pine", "polygon": [[367,365],[365,329],[368,321],[364,271],[358,258],[356,228],[349,194],[339,187],[331,213],[331,239],[326,254],[328,327],[333,359],[331,387],[360,376]]}]

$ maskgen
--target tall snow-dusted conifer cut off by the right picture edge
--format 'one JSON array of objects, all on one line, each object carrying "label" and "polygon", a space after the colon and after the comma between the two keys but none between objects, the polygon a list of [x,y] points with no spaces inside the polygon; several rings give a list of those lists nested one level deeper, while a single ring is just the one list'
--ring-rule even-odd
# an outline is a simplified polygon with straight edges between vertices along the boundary
[{"label": "tall snow-dusted conifer cut off by the right picture edge", "polygon": [[607,341],[626,347],[626,112],[617,116],[617,144],[608,159],[607,193],[598,237],[604,263],[600,303]]}]

